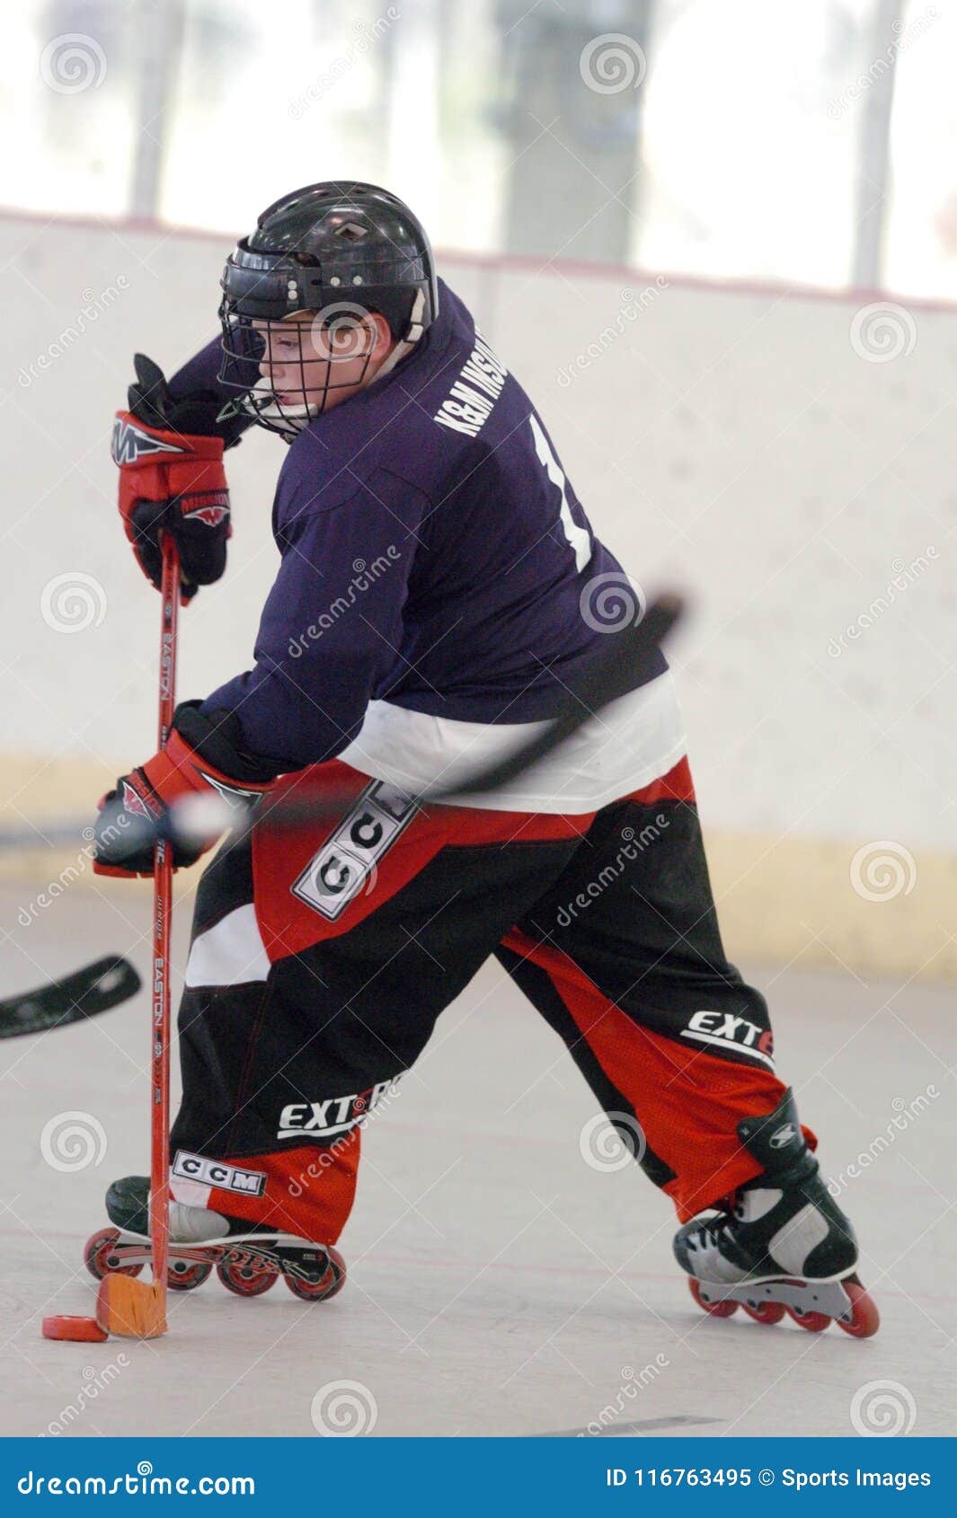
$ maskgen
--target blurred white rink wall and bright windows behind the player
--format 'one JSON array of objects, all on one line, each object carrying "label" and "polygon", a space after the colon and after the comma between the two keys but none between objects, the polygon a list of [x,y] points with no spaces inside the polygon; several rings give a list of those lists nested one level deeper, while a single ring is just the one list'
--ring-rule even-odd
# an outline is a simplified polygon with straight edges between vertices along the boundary
[{"label": "blurred white rink wall and bright windows behind the player", "polygon": [[[957,975],[957,8],[46,0],[9,27],[6,818],[152,745],[106,442],[132,352],[176,367],[235,235],[363,178],[430,226],[632,577],[691,594],[671,663],[732,958]],[[275,572],[283,445],[254,434],[184,695],[248,666]]]}]

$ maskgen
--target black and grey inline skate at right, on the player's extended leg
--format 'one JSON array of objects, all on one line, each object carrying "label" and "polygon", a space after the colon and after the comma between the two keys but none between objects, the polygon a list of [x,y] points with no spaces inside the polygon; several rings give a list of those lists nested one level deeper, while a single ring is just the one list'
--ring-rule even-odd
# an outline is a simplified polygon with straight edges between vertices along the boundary
[{"label": "black and grey inline skate at right, on the player's extended leg", "polygon": [[820,1176],[790,1090],[773,1113],[746,1117],[737,1131],[763,1173],[674,1236],[696,1302],[714,1318],[741,1305],[761,1324],[787,1312],[811,1333],[831,1321],[857,1339],[876,1333],[876,1305],[854,1274],[854,1228]]}]

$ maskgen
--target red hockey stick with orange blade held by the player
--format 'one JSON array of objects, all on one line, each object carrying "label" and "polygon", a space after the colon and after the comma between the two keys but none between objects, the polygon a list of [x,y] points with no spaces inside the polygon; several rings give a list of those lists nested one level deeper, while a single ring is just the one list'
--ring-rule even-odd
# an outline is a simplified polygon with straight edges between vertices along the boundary
[{"label": "red hockey stick with orange blade held by the player", "polygon": [[[163,539],[163,622],[160,630],[160,733],[166,748],[176,706],[176,631],[179,622],[179,556]],[[172,846],[156,842],[153,864],[153,984],[150,1066],[149,1237],[152,1284],[131,1275],[105,1275],[96,1319],[106,1333],[156,1339],[166,1333],[166,1266],[170,1243],[170,923],[173,917]]]}]

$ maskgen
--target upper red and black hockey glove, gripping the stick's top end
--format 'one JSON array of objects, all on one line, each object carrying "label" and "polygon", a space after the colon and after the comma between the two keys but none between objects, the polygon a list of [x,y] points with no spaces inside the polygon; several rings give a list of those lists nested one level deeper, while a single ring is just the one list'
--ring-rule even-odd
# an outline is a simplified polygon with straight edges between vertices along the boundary
[{"label": "upper red and black hockey glove, gripping the stick's top end", "polygon": [[214,434],[216,398],[173,401],[163,370],[135,355],[129,410],[117,411],[112,458],[120,466],[120,516],[140,568],[160,587],[160,533],[173,537],[182,568],[182,600],[226,568],[229,490],[223,439]]}]

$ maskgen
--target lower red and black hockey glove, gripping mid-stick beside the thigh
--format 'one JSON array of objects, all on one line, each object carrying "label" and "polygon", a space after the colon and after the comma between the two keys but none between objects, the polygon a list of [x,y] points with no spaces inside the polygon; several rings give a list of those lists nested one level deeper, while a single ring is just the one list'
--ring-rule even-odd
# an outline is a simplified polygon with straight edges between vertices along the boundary
[{"label": "lower red and black hockey glove, gripping mid-stick beside the thigh", "polygon": [[[238,730],[237,718],[226,713],[220,713],[219,720],[207,718],[196,710],[197,706],[197,701],[185,701],[176,707],[166,748],[131,774],[122,776],[115,791],[100,798],[99,817],[93,827],[94,874],[126,879],[137,874],[152,876],[155,838],[152,832],[144,838],[143,827],[137,826],[144,820],[158,824],[163,835],[170,839],[173,870],[196,864],[217,841],[219,832],[199,842],[193,838],[185,841],[176,835],[176,820],[175,815],[170,817],[170,808],[187,797],[219,794],[240,811],[245,805],[257,802],[272,785],[275,774],[270,773],[269,761],[251,762],[251,756],[242,756],[231,747],[229,741]],[[204,748],[207,751],[213,748],[217,757],[231,754],[235,761],[229,765],[231,770],[257,773],[260,777],[237,780],[226,774],[211,764],[176,724],[185,727],[193,739],[199,736]]]}]

